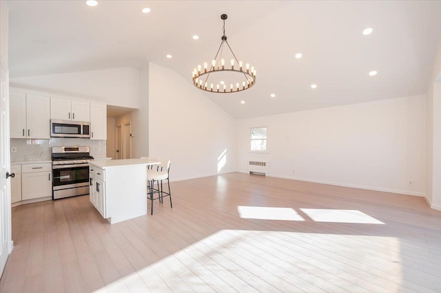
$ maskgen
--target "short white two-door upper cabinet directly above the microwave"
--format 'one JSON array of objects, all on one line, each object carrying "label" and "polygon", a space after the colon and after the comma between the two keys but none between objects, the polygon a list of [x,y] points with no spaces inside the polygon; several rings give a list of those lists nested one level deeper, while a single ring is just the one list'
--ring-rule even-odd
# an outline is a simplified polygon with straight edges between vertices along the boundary
[{"label": "short white two-door upper cabinet directly above the microwave", "polygon": [[90,122],[90,102],[68,98],[50,98],[50,118]]}]

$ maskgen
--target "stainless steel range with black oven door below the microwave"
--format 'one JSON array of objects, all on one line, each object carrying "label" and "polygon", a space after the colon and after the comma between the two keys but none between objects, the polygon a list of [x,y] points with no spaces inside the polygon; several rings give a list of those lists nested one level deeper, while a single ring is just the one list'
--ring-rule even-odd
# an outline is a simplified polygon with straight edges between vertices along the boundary
[{"label": "stainless steel range with black oven door below the microwave", "polygon": [[52,146],[52,199],[89,194],[89,146]]}]

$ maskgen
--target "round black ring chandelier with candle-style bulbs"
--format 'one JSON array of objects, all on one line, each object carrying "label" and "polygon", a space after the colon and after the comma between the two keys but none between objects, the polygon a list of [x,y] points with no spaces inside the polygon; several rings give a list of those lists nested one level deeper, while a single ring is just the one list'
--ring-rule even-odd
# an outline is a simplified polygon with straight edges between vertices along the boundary
[{"label": "round black ring chandelier with candle-style bulbs", "polygon": [[[227,14],[220,15],[220,19],[223,20],[223,36],[220,38],[222,42],[211,65],[205,62],[203,67],[198,65],[192,72],[194,86],[203,91],[223,94],[236,93],[245,91],[256,83],[256,69],[250,67],[248,63],[243,67],[243,62],[238,61],[232,48],[229,47],[227,36],[225,36],[225,19],[227,17]],[[223,58],[225,44],[233,57],[229,61],[231,66],[225,65]]]}]

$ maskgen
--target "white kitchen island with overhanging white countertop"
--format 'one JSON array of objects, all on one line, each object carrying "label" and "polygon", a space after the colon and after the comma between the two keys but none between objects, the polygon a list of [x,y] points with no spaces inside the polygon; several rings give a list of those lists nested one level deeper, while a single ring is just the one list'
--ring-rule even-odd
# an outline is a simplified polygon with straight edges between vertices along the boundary
[{"label": "white kitchen island with overhanging white countertop", "polygon": [[147,159],[90,161],[90,202],[115,224],[147,215]]}]

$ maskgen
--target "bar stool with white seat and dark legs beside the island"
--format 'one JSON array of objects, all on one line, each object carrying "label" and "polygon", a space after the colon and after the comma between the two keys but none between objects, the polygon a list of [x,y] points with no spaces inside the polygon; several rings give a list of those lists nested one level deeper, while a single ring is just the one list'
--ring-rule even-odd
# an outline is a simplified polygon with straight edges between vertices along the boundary
[{"label": "bar stool with white seat and dark legs beside the island", "polygon": [[[153,201],[156,199],[159,199],[159,202],[163,204],[163,197],[168,196],[170,197],[170,208],[173,208],[172,204],[172,193],[170,192],[170,160],[155,160],[158,162],[161,162],[161,164],[156,165],[153,169],[147,169],[147,183],[150,193],[150,201],[152,202],[152,215],[153,215]],[[168,193],[164,191],[163,189],[163,180],[167,180],[168,185]],[[158,186],[157,189],[154,188],[154,182],[156,181],[156,184]],[[158,193],[158,197],[154,198],[154,193]]]}]

